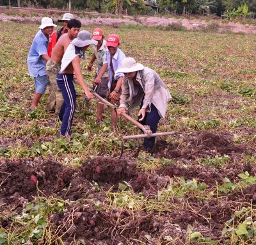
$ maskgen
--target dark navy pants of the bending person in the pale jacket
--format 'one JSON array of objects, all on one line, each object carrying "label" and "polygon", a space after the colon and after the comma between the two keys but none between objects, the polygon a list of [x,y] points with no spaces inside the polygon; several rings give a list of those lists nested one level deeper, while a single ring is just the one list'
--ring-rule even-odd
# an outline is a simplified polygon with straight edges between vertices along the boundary
[{"label": "dark navy pants of the bending person in the pale jacket", "polygon": [[[141,116],[138,117],[138,119],[140,119],[140,118],[141,118]],[[146,113],[143,121],[139,121],[139,122],[142,125],[148,125],[150,127],[150,130],[152,131],[152,133],[154,133],[157,130],[157,125],[159,123],[159,120],[160,120],[160,116],[158,114],[156,106],[154,106],[154,104],[151,104],[150,113]],[[143,150],[146,150],[147,152],[151,152],[155,145],[155,138],[156,137],[144,138]]]}]

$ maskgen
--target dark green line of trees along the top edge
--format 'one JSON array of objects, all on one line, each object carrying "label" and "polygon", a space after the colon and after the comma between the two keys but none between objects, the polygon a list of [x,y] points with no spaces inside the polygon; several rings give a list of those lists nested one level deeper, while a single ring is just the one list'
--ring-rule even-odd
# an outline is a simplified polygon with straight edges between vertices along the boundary
[{"label": "dark green line of trees along the top edge", "polygon": [[[0,0],[1,6],[57,8],[127,15],[198,14],[255,17],[256,0]],[[155,8],[152,6],[156,6]]]}]

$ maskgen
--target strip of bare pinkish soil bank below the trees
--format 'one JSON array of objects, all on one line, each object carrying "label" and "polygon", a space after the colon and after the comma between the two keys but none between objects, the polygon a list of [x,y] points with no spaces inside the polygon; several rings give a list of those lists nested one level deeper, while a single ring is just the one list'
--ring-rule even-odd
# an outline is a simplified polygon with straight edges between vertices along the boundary
[{"label": "strip of bare pinkish soil bank below the trees", "polygon": [[[24,9],[26,10],[26,9]],[[16,10],[17,11],[17,10]],[[36,10],[35,10],[36,11]],[[30,13],[29,13],[30,14]],[[28,15],[29,15],[28,14]],[[76,16],[76,14],[75,14]],[[3,22],[38,22],[40,24],[42,17],[20,17],[20,15],[6,15],[5,13],[0,13],[0,20]],[[118,18],[117,16],[113,17],[84,17],[80,18],[82,24],[85,26],[95,25],[106,25],[113,26],[118,28],[122,25],[135,25],[135,26],[147,26],[147,27],[168,27],[173,26],[175,29],[184,28],[187,30],[203,30],[207,31],[216,31],[219,33],[230,31],[232,33],[244,33],[244,34],[256,34],[256,26],[251,24],[241,24],[239,22],[221,22],[221,19],[212,19],[212,20],[201,20],[201,19],[175,19],[168,17],[145,17],[145,16],[124,16]],[[54,22],[57,22],[58,19],[54,19]],[[179,28],[180,27],[180,28]]]}]

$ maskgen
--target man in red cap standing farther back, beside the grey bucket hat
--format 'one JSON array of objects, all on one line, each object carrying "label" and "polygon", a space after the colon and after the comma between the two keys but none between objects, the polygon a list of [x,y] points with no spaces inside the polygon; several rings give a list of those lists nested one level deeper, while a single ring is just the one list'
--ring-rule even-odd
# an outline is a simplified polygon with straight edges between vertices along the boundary
[{"label": "man in red cap standing farther back, beside the grey bucket hat", "polygon": [[[97,59],[98,67],[95,74],[94,88],[96,93],[105,99],[108,92],[108,63],[106,59],[106,40],[104,40],[104,33],[102,29],[94,29],[92,39],[97,40],[98,44],[92,46],[93,55],[87,69],[91,71],[93,62]],[[100,120],[102,120],[103,107],[103,104],[98,102],[97,115],[95,118],[96,122],[100,122]]]}]

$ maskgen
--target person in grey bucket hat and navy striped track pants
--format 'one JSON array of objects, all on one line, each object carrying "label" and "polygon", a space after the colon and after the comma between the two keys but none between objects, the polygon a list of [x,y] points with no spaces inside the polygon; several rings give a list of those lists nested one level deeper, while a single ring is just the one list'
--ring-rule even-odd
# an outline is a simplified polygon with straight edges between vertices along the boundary
[{"label": "person in grey bucket hat and navy striped track pants", "polygon": [[68,45],[63,58],[61,60],[61,70],[57,75],[57,84],[64,98],[63,105],[60,110],[59,118],[61,120],[60,136],[71,136],[71,125],[76,109],[76,91],[73,84],[73,76],[76,75],[77,83],[83,88],[88,99],[93,98],[81,72],[79,58],[85,59],[84,51],[88,49],[90,44],[97,45],[97,41],[92,40],[89,31],[80,31],[77,38],[72,40]]}]

